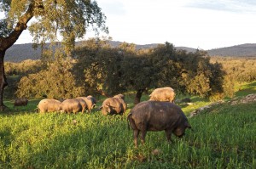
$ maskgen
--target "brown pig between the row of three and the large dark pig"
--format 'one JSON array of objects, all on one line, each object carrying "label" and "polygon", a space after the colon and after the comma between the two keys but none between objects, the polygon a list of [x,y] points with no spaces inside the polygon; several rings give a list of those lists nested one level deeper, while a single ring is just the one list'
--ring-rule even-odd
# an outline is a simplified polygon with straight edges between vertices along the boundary
[{"label": "brown pig between the row of three and the large dark pig", "polygon": [[123,115],[126,111],[125,100],[117,98],[105,99],[102,103],[102,115]]}]

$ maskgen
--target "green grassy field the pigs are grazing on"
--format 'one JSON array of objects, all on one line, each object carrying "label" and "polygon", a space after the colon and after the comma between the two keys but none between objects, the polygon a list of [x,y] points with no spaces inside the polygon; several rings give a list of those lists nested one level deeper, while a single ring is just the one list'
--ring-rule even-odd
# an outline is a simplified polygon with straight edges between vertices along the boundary
[{"label": "green grassy field the pigs are grazing on", "polygon": [[[256,82],[237,87],[236,97],[256,93]],[[239,89],[240,88],[240,89]],[[147,99],[144,96],[143,99]],[[129,107],[132,100],[127,97]],[[207,100],[182,105],[189,115]],[[256,104],[212,106],[189,118],[184,138],[148,132],[134,148],[126,115],[38,114],[38,100],[0,114],[0,168],[256,168]],[[158,153],[152,151],[157,149]]]}]

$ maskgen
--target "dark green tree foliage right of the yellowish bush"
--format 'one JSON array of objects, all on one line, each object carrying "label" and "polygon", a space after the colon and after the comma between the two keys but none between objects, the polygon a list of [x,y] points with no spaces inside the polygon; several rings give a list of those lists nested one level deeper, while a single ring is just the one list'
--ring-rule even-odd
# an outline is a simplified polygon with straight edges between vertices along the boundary
[{"label": "dark green tree foliage right of the yellowish bush", "polygon": [[[90,40],[74,53],[79,84],[110,94],[171,86],[177,92],[209,97],[223,93],[221,65],[210,63],[204,51],[186,53],[166,42],[150,50],[136,50],[134,44],[121,43],[110,48],[105,42]],[[78,68],[78,69],[77,69]],[[80,75],[84,72],[84,77]],[[85,79],[85,80],[84,80]]]}]

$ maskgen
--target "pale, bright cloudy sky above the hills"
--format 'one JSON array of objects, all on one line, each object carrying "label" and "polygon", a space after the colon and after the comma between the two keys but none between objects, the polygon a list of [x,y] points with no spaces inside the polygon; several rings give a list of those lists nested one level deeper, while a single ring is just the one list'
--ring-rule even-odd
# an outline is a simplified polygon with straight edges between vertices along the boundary
[{"label": "pale, bright cloudy sky above the hills", "polygon": [[[96,0],[113,41],[224,48],[256,43],[255,0]],[[89,32],[84,37],[93,37]],[[15,44],[32,42],[28,31]]]}]

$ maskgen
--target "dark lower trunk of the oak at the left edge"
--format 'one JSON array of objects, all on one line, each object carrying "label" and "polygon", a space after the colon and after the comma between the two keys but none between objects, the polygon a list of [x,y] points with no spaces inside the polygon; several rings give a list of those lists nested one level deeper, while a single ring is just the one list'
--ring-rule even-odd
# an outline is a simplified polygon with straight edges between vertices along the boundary
[{"label": "dark lower trunk of the oak at the left edge", "polygon": [[4,51],[0,51],[0,110],[3,111],[6,106],[3,104],[3,89],[7,86],[6,76],[4,73]]}]

